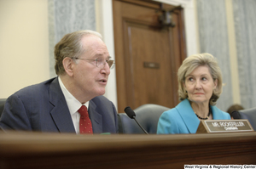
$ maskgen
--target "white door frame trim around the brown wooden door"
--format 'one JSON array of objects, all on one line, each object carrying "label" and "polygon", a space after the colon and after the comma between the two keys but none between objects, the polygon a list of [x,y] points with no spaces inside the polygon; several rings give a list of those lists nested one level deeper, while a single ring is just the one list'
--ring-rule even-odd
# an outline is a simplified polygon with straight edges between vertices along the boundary
[{"label": "white door frame trim around the brown wooden door", "polygon": [[[187,57],[192,54],[197,54],[199,50],[199,38],[197,31],[197,20],[195,14],[195,0],[153,0],[160,3],[166,3],[173,6],[181,5],[184,10],[184,25],[186,33]],[[114,40],[113,40],[113,6],[112,0],[96,0],[96,31],[100,32],[103,41],[108,47],[108,52],[113,59],[114,56]],[[188,28],[189,25],[189,28]],[[187,28],[187,29],[186,29]],[[108,77],[108,85],[104,94],[113,102],[118,110],[116,72],[111,70]],[[120,112],[119,112],[120,113]]]}]

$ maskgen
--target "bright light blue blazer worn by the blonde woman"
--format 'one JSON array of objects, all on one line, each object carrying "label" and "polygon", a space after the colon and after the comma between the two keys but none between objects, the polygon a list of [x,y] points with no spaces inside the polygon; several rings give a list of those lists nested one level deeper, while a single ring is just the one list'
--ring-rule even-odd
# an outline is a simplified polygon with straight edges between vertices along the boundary
[{"label": "bright light blue blazer worn by the blonde woman", "polygon": [[[219,110],[216,106],[211,106],[213,120],[230,120],[230,114]],[[158,121],[158,134],[181,134],[195,133],[200,120],[194,113],[188,99],[182,102],[171,110],[165,111],[160,115]]]}]

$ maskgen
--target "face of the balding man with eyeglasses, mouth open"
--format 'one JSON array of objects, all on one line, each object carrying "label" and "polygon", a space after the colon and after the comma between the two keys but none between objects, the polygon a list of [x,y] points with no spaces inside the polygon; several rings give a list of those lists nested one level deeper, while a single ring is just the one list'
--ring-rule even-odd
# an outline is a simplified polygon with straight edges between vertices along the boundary
[{"label": "face of the balding man with eyeglasses, mouth open", "polygon": [[[82,38],[85,52],[73,64],[74,90],[81,96],[91,99],[103,95],[108,82],[110,69],[106,63],[102,68],[96,66],[96,61],[86,59],[109,60],[108,48],[99,37],[90,36]],[[74,60],[75,61],[75,60]]]}]

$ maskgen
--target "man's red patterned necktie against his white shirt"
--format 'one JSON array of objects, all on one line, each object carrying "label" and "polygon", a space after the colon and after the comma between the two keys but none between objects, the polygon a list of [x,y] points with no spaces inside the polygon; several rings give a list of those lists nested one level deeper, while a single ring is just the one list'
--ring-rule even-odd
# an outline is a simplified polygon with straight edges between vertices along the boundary
[{"label": "man's red patterned necktie against his white shirt", "polygon": [[81,108],[78,110],[80,114],[80,121],[79,121],[79,130],[80,134],[92,134],[92,127],[89,118],[89,114],[85,105],[82,105]]}]

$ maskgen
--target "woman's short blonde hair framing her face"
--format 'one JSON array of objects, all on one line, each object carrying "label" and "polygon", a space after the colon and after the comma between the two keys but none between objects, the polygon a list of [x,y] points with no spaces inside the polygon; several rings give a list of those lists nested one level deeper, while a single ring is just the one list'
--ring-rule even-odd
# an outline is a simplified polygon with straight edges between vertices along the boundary
[{"label": "woman's short blonde hair framing her face", "polygon": [[194,54],[183,60],[183,64],[177,70],[178,96],[180,100],[187,99],[188,93],[183,87],[185,78],[198,66],[207,65],[213,82],[218,80],[217,87],[212,92],[210,104],[215,105],[220,94],[222,93],[222,75],[218,66],[217,59],[212,54]]}]

